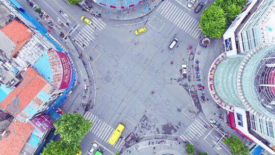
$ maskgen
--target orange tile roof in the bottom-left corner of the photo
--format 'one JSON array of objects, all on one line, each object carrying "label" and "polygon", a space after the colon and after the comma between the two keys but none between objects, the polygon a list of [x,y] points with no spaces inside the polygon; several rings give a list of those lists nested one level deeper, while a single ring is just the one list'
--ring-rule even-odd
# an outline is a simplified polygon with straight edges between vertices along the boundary
[{"label": "orange tile roof in the bottom-left corner of the photo", "polygon": [[19,120],[13,121],[9,126],[10,134],[0,140],[0,154],[19,154],[33,130],[34,126],[30,123],[22,123]]}]

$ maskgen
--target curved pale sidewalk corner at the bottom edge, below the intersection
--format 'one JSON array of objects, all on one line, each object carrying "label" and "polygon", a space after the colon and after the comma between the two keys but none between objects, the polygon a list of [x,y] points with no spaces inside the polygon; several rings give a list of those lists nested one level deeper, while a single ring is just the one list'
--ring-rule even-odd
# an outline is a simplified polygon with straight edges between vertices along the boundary
[{"label": "curved pale sidewalk corner at the bottom edge, below the intersection", "polygon": [[[160,143],[162,141],[162,144]],[[152,144],[153,143],[153,144]],[[132,145],[121,155],[140,155],[140,154],[174,154],[174,155],[184,155],[185,152],[185,145],[184,143],[174,141],[174,140],[167,140],[167,139],[157,139],[157,140],[146,140],[136,143]]]}]

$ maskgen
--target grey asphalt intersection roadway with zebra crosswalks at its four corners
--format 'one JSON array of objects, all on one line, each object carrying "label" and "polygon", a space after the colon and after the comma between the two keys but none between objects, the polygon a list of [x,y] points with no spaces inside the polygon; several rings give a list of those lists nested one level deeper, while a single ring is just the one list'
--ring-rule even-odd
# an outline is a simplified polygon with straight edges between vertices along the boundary
[{"label": "grey asphalt intersection roadway with zebra crosswalks at its four corners", "polygon": [[[88,82],[91,109],[84,117],[94,125],[81,142],[83,153],[92,141],[105,154],[114,154],[136,141],[178,137],[179,141],[193,143],[199,151],[229,154],[229,148],[223,144],[212,148],[221,137],[210,126],[204,127],[208,122],[199,102],[194,101],[197,94],[189,91],[187,79],[181,79],[182,64],[187,64],[188,73],[193,73],[188,60],[194,53],[186,51],[186,47],[196,47],[203,36],[198,30],[199,14],[188,9],[186,1],[164,1],[150,15],[129,21],[95,18],[64,1],[35,2],[56,23],[69,23],[55,31],[68,33],[76,48],[70,54],[79,54],[81,58],[80,61],[75,57],[74,63],[84,66],[78,68],[79,86],[66,100],[69,106],[63,106],[66,111],[84,113],[80,104],[85,96],[84,84]],[[81,16],[87,16],[93,23],[85,24],[80,21]],[[146,27],[147,32],[136,36],[134,31],[141,27]],[[174,38],[179,42],[171,50],[168,46]],[[70,46],[66,40],[63,44]],[[111,146],[107,140],[120,122],[126,125],[122,139]],[[136,141],[125,143],[131,132]]]}]

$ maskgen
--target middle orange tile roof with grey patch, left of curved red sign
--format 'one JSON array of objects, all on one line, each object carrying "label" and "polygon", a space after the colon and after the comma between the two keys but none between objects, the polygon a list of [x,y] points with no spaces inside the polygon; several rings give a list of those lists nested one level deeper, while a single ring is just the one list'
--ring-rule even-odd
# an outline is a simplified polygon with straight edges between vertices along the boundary
[{"label": "middle orange tile roof with grey patch, left of curved red sign", "polygon": [[35,96],[47,85],[46,80],[33,68],[29,67],[22,73],[21,83],[0,102],[5,111],[16,117]]}]

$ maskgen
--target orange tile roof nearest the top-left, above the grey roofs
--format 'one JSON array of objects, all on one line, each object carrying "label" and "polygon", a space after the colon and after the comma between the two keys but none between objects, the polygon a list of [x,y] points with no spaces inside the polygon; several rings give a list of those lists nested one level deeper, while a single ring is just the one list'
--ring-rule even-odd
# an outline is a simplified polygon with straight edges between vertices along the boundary
[{"label": "orange tile roof nearest the top-left, above the grey roofs", "polygon": [[14,57],[17,51],[32,37],[33,33],[28,30],[26,25],[17,20],[13,20],[0,30],[16,44],[11,57]]}]

